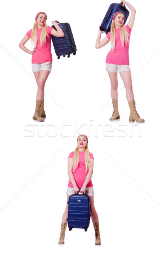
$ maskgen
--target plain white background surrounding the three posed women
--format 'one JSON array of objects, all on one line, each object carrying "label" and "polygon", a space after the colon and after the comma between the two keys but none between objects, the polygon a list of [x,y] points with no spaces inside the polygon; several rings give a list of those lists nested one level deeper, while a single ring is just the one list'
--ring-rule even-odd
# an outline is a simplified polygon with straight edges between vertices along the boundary
[{"label": "plain white background surrounding the three posed women", "polygon": [[[4,1],[1,6],[0,255],[165,255],[164,1],[135,1],[130,67],[137,111],[145,123],[129,123],[119,77],[120,120],[112,114],[105,57],[95,49],[98,27],[111,1]],[[46,82],[46,119],[32,119],[37,85],[31,55],[18,44],[37,12],[68,22],[77,54],[57,57]],[[30,47],[30,44],[27,44]],[[164,47],[164,48],[163,48]],[[66,205],[67,159],[78,134],[94,154],[92,181],[101,246],[88,231],[72,230],[59,245]]]}]

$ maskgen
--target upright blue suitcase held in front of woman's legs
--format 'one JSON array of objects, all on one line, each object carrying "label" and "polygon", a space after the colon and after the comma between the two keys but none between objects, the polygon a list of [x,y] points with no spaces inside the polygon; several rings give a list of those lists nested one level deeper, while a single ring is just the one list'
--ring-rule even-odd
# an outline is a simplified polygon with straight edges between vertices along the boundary
[{"label": "upright blue suitcase held in front of woman's legs", "polygon": [[89,195],[73,194],[68,201],[68,228],[84,228],[85,232],[89,227],[91,217],[91,198]]}]

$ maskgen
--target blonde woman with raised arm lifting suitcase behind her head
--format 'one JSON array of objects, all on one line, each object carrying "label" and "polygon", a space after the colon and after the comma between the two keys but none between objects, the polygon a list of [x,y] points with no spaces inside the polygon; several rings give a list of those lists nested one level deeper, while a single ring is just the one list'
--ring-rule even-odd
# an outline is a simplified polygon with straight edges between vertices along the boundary
[{"label": "blonde woman with raised arm lifting suitcase behind her head", "polygon": [[127,5],[128,8],[131,10],[131,16],[129,18],[128,24],[126,26],[123,25],[125,16],[122,12],[116,12],[113,16],[112,23],[111,23],[111,32],[109,32],[105,38],[101,41],[101,34],[103,33],[100,31],[97,36],[96,40],[96,48],[99,49],[108,42],[111,41],[111,49],[108,52],[106,58],[106,70],[108,71],[108,75],[111,81],[111,98],[112,104],[114,108],[114,112],[110,117],[110,120],[119,119],[119,111],[118,111],[118,94],[117,94],[117,87],[118,87],[118,80],[117,80],[117,70],[122,78],[122,81],[125,85],[126,89],[126,98],[128,100],[128,104],[130,107],[130,117],[129,121],[134,122],[144,122],[145,120],[140,118],[138,115],[136,108],[135,108],[135,100],[134,100],[134,93],[132,90],[132,81],[131,81],[131,70],[129,67],[129,39],[131,35],[131,29],[134,25],[134,19],[136,10],[134,7],[128,3],[127,1],[122,0],[121,3],[123,5]]}]

